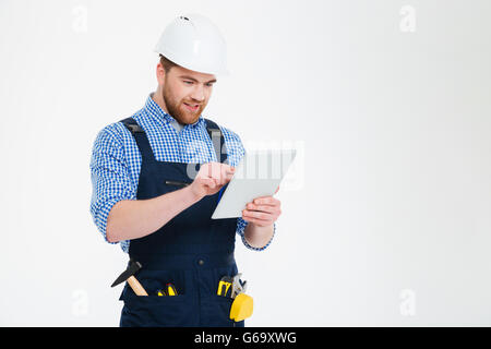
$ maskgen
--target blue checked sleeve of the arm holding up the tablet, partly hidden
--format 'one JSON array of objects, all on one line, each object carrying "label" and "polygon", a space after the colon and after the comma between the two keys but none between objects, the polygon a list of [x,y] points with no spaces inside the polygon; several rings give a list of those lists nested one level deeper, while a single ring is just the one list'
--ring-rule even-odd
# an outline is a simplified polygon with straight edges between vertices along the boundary
[{"label": "blue checked sleeve of the arm holding up the tablet, partly hidden", "polygon": [[[227,155],[228,155],[228,159],[229,159],[229,165],[232,167],[237,167],[239,165],[240,160],[242,159],[243,155],[246,154],[246,149],[242,145],[242,141],[240,140],[240,136],[237,133],[235,133],[226,128],[221,128],[221,132],[224,133],[225,144],[227,146]],[[253,251],[264,251],[271,244],[271,242],[273,241],[273,238],[276,233],[276,222],[273,224],[273,236],[271,237],[270,241],[262,248],[253,248],[248,243],[248,241],[246,240],[246,237],[244,237],[247,226],[248,226],[248,221],[243,220],[241,217],[237,218],[236,232],[242,239],[242,242],[246,245],[246,248],[248,248],[249,250],[253,250]]]}]

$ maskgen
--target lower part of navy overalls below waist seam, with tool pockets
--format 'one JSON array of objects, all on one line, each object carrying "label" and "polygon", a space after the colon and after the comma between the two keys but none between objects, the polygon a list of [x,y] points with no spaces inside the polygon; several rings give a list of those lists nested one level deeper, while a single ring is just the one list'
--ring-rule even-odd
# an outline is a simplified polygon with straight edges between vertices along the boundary
[{"label": "lower part of navy overalls below waist seam, with tool pockets", "polygon": [[142,261],[132,276],[148,296],[136,296],[125,284],[121,326],[243,326],[252,315],[252,298],[240,291],[240,278],[235,293],[219,293],[223,277],[238,275],[233,253],[147,255]]}]

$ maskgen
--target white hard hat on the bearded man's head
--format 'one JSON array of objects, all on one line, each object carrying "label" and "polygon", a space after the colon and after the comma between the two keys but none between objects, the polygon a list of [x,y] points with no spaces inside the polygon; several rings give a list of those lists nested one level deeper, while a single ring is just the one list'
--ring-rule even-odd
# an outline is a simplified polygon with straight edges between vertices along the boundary
[{"label": "white hard hat on the bearded man's head", "polygon": [[176,17],[155,47],[173,63],[205,74],[228,75],[227,44],[207,17],[189,13]]}]

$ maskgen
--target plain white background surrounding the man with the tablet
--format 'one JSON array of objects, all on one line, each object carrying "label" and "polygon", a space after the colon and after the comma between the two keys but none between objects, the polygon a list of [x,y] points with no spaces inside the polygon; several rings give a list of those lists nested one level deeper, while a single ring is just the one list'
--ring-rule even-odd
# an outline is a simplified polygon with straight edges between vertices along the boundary
[{"label": "plain white background surrounding the man with the tablet", "polygon": [[0,325],[119,324],[92,146],[156,88],[154,46],[189,11],[229,49],[204,116],[304,149],[274,243],[237,242],[248,325],[491,325],[487,0],[1,0]]}]

